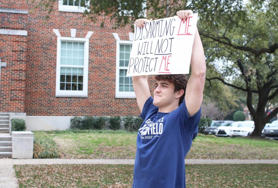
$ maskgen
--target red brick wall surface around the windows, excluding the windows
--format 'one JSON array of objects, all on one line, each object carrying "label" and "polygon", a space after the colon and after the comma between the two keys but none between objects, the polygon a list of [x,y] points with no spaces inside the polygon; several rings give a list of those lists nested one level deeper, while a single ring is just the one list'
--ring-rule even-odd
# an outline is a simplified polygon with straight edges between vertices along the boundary
[{"label": "red brick wall surface around the windows, excluding the windows", "polygon": [[[59,12],[58,1],[50,18],[45,20],[42,8],[30,12],[34,4],[13,2],[17,3],[4,1],[1,7],[29,10],[29,13],[1,13],[5,17],[1,27],[27,30],[28,36],[0,35],[0,49],[7,63],[1,71],[0,95],[4,99],[0,99],[0,112],[26,112],[27,116],[140,114],[136,99],[115,98],[116,39],[112,33],[128,35],[132,32],[130,26],[112,29],[113,23],[108,18],[101,28],[100,22],[94,24],[81,13]],[[94,31],[89,40],[88,98],[55,97],[57,36],[53,29],[70,32],[71,28],[77,29],[77,33]]]}]

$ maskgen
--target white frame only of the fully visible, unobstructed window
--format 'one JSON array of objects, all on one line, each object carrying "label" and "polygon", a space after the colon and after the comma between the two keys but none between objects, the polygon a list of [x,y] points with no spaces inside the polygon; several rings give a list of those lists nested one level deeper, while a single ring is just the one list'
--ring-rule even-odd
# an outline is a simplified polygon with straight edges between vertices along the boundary
[{"label": "white frame only of the fully visible, unobstructed window", "polygon": [[[60,90],[61,42],[84,42],[83,91]],[[56,97],[88,97],[88,64],[89,39],[57,37]]]}]

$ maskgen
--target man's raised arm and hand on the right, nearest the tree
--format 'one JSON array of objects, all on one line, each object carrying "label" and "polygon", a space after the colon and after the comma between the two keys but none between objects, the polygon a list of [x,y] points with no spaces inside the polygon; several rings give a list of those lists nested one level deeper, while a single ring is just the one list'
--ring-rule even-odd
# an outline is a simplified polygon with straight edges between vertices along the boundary
[{"label": "man's raised arm and hand on the right, nearest the tree", "polygon": [[[180,10],[177,12],[179,18],[187,18],[193,14],[191,10]],[[192,116],[201,107],[203,101],[204,83],[206,77],[206,63],[204,58],[204,49],[196,27],[195,38],[191,54],[191,76],[187,82],[185,91],[185,104],[188,115]]]}]

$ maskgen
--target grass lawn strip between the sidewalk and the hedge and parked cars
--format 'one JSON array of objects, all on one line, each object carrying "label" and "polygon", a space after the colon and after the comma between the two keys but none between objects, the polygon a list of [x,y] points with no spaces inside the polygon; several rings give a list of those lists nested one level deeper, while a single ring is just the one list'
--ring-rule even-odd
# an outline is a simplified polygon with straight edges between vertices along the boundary
[{"label": "grass lawn strip between the sidewalk and the hedge and parked cars", "polygon": [[[49,134],[63,158],[134,159],[137,133]],[[187,159],[278,159],[278,141],[197,136]]]}]

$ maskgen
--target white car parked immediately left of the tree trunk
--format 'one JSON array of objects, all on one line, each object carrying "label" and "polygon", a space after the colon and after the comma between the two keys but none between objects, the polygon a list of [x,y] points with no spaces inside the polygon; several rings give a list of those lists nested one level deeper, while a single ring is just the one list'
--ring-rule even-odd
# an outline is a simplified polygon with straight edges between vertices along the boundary
[{"label": "white car parked immediately left of the tree trunk", "polygon": [[253,133],[254,121],[242,121],[230,131],[230,137],[247,137]]}]

